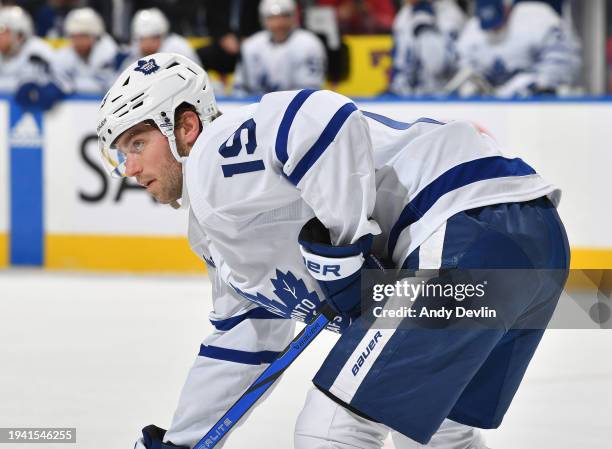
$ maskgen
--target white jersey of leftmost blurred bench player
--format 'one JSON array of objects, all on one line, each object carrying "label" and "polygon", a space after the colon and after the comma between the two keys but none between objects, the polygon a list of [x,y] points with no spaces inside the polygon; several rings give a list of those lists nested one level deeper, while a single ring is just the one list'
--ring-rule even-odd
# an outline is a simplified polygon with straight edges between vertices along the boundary
[{"label": "white jersey of leftmost blurred bench player", "polygon": [[55,50],[39,37],[30,37],[12,56],[0,54],[0,92],[16,92],[25,82],[46,84],[54,82],[68,90],[66,77],[62,76],[56,60]]}]

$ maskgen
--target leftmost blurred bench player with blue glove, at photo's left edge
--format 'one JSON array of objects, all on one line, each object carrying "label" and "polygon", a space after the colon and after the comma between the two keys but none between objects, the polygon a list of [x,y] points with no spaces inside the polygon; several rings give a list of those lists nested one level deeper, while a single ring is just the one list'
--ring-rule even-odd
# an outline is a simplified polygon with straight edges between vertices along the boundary
[{"label": "leftmost blurred bench player with blue glove, at photo's left edge", "polygon": [[70,84],[54,50],[32,32],[32,19],[22,8],[0,8],[0,91],[14,93],[24,107],[49,109]]}]

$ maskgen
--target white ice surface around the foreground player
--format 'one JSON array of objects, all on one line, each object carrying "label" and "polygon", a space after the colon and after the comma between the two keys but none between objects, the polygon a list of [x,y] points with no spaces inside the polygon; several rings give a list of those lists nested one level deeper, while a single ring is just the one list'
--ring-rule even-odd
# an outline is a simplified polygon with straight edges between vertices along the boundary
[{"label": "white ice surface around the foreground player", "polygon": [[[0,449],[131,449],[167,427],[211,330],[201,277],[0,271],[0,427],[76,427],[76,444]],[[228,449],[292,447],[309,380],[336,340],[321,335]],[[205,400],[205,399],[203,399]],[[611,449],[612,331],[551,330],[493,449]]]}]

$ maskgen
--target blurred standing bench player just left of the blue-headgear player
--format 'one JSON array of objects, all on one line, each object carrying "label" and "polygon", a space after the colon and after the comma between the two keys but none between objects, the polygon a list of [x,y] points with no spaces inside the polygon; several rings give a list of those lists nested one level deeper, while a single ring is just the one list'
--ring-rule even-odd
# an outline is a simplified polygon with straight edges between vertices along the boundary
[{"label": "blurred standing bench player just left of the blue-headgear player", "polygon": [[390,91],[444,94],[455,71],[455,41],[465,21],[454,0],[406,0],[393,23]]}]

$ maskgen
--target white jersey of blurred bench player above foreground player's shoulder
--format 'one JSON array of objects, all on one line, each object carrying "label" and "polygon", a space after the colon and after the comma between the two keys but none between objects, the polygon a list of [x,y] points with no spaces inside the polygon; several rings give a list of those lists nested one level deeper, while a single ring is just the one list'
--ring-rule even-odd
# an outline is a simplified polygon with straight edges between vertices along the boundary
[{"label": "white jersey of blurred bench player above foreground player's shoulder", "polygon": [[268,31],[260,31],[242,43],[240,52],[236,96],[320,88],[325,81],[325,48],[310,31],[295,29],[281,44],[274,43]]}]

